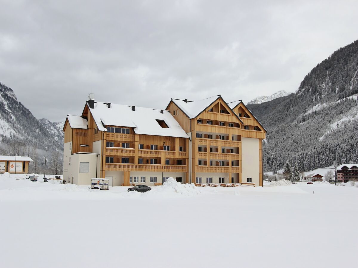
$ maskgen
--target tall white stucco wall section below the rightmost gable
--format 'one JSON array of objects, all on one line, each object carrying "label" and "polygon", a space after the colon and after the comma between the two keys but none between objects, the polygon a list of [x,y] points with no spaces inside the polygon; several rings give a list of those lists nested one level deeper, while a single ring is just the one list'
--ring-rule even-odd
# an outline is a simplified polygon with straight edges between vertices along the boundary
[{"label": "tall white stucco wall section below the rightmost gable", "polygon": [[241,165],[242,182],[247,183],[247,178],[252,178],[252,183],[260,185],[259,169],[259,142],[260,139],[242,138],[241,139]]}]

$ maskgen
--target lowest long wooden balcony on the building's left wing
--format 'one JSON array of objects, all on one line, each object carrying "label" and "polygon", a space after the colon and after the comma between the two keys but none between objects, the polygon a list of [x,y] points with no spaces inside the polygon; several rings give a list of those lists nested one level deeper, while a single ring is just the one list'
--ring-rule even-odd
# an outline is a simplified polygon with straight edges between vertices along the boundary
[{"label": "lowest long wooden balcony on the building's left wing", "polygon": [[120,164],[106,163],[108,171],[158,171],[158,172],[186,172],[186,165],[150,165],[150,164]]}]

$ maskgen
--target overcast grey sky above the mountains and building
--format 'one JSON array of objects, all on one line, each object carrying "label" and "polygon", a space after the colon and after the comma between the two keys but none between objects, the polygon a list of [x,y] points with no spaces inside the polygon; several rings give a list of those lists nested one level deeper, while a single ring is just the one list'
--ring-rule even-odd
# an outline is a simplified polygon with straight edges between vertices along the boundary
[{"label": "overcast grey sky above the mountains and building", "polygon": [[4,1],[0,82],[37,118],[80,114],[89,93],[165,108],[295,91],[358,39],[358,1]]}]

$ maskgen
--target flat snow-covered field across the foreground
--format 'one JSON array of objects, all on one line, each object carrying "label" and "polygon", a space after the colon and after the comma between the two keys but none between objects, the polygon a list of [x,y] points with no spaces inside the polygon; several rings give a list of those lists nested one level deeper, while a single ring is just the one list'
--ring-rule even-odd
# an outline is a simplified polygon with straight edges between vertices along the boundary
[{"label": "flat snow-covered field across the foreground", "polygon": [[357,267],[358,188],[147,193],[0,175],[1,267]]}]

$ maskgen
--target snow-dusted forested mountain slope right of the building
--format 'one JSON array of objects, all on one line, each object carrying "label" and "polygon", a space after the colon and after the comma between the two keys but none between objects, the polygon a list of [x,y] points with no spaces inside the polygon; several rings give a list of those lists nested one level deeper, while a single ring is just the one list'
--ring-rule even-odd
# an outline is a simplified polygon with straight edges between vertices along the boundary
[{"label": "snow-dusted forested mountain slope right of the building", "polygon": [[248,108],[268,131],[266,170],[358,162],[358,40],[318,64],[294,94]]}]

